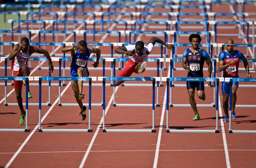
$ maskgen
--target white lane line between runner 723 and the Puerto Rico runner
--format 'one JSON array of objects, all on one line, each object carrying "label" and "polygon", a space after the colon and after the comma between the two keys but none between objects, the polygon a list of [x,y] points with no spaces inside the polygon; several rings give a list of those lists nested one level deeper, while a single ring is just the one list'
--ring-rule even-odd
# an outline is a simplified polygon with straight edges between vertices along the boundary
[{"label": "white lane line between runner 723 and the Puerto Rico runner", "polygon": [[225,134],[225,128],[224,128],[224,123],[222,120],[222,110],[221,110],[221,98],[220,98],[220,93],[218,93],[219,96],[219,101],[218,101],[218,108],[219,108],[219,113],[220,113],[220,118],[221,118],[221,131],[222,131],[222,138],[223,138],[223,144],[224,144],[224,151],[225,151],[225,156],[226,156],[226,164],[227,168],[230,167],[230,159],[229,159],[229,154],[228,154],[228,149],[227,149],[227,139],[226,139],[226,134]]}]

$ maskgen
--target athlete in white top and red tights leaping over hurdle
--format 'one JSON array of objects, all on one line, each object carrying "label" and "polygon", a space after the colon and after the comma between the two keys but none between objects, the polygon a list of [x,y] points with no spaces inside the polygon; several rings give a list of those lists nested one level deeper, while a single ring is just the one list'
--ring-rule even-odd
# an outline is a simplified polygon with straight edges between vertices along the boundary
[{"label": "athlete in white top and red tights leaping over hurdle", "polygon": [[[154,49],[155,42],[163,44],[168,49],[173,49],[173,44],[167,44],[157,37],[152,37],[148,45],[144,46],[143,41],[137,41],[135,45],[122,46],[116,48],[115,52],[118,54],[126,54],[131,56],[131,59],[125,64],[118,77],[129,77],[133,72],[143,73],[147,67],[148,55]],[[119,86],[124,81],[115,81],[115,86]]]}]

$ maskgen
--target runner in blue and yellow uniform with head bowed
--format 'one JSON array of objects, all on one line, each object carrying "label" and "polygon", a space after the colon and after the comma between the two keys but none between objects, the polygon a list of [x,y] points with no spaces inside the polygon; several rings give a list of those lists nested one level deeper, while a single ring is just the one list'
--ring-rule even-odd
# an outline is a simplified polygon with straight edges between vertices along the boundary
[{"label": "runner in blue and yellow uniform with head bowed", "polygon": [[[87,47],[87,43],[84,40],[79,41],[78,45],[73,44],[71,47],[65,47],[62,52],[71,52],[71,62],[70,62],[70,76],[71,77],[87,77],[89,76],[89,71],[87,69],[87,60],[92,53],[96,54],[96,62],[94,62],[93,67],[96,68],[99,65],[100,49]],[[82,120],[85,120],[86,107],[83,105],[82,99],[84,96],[83,91],[83,81],[71,81],[71,86],[76,97],[76,101],[81,109],[80,115],[82,114]]]}]

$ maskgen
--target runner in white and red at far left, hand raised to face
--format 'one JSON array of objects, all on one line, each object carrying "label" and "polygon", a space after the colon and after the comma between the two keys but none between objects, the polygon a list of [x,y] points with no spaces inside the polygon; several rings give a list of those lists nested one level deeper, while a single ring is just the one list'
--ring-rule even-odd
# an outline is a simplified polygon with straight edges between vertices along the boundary
[{"label": "runner in white and red at far left, hand raised to face", "polygon": [[[34,52],[37,52],[39,54],[44,54],[48,61],[49,61],[49,70],[53,72],[54,68],[52,65],[52,60],[50,58],[49,53],[45,49],[38,49],[35,46],[29,45],[29,39],[28,38],[22,38],[20,43],[15,44],[13,46],[12,52],[9,55],[9,60],[12,60],[11,69],[13,70],[13,76],[29,76],[30,69],[28,66],[28,59],[30,55],[32,55]],[[23,81],[13,81],[14,83],[14,89],[16,93],[17,103],[20,108],[20,125],[24,123],[24,118],[26,116],[26,111],[24,111],[23,104],[22,104],[22,85]],[[29,85],[28,85],[29,90]],[[30,90],[28,93],[28,98],[32,98],[30,94]]]}]

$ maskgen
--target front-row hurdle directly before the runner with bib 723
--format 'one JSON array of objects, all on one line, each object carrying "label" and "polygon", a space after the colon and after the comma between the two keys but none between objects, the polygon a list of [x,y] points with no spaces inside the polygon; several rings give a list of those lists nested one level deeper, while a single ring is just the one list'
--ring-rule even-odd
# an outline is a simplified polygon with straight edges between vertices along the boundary
[{"label": "front-row hurdle directly before the runner with bib 723", "polygon": [[[166,87],[167,87],[167,92],[166,92],[166,102],[169,102],[169,81],[216,81],[217,85],[217,93],[218,93],[218,85],[219,85],[219,80],[216,78],[162,78],[163,81],[166,81]],[[172,90],[171,87],[172,83],[170,84],[170,90]],[[172,95],[170,96],[172,98]],[[215,130],[172,130],[169,128],[169,104],[166,103],[166,132],[167,133],[219,133],[218,130],[218,96],[216,96],[217,104],[216,104],[216,128]],[[171,106],[171,107],[185,107],[185,106]],[[189,106],[186,107],[191,107],[190,104]],[[197,104],[197,107],[202,107],[200,104]]]}]

